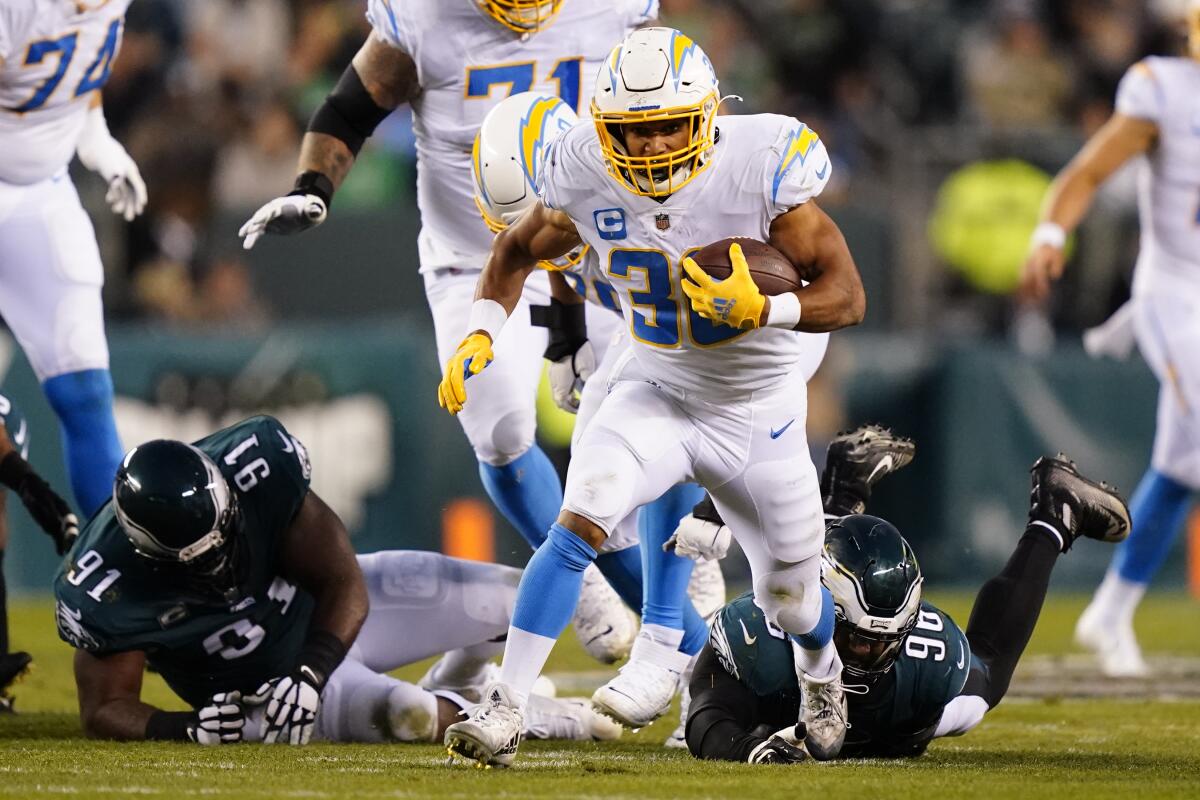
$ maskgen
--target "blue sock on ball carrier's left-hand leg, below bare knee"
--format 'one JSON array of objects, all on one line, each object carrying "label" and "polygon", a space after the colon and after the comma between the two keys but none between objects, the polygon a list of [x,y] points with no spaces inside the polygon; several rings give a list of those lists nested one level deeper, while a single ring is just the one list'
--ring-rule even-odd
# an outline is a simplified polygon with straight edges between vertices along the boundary
[{"label": "blue sock on ball carrier's left-hand leg, below bare knee", "polygon": [[557,639],[580,602],[583,570],[596,552],[582,539],[554,523],[550,535],[529,559],[517,588],[512,626]]}]

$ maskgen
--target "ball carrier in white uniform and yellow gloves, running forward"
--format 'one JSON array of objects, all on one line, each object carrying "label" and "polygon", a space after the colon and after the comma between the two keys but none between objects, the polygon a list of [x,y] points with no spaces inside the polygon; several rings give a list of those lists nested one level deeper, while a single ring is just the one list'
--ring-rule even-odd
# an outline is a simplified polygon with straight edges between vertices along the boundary
[{"label": "ball carrier in white uniform and yellow gloves, running forward", "polygon": [[[695,42],[666,28],[635,31],[601,71],[594,126],[551,144],[541,200],[492,246],[467,338],[439,387],[450,413],[467,402],[464,371],[503,361],[492,343],[536,261],[581,242],[606,265],[634,344],[575,450],[563,511],[521,579],[502,681],[468,721],[450,726],[452,752],[512,762],[526,698],[570,618],[580,573],[632,509],[683,481],[713,494],[761,602],[800,640],[814,697],[804,715],[810,751],[832,757],[841,746],[841,668],[833,603],[820,588],[821,500],[802,446],[804,343],[794,331],[857,324],[865,299],[845,240],[810,201],[830,169],[816,133],[769,114],[725,116],[718,130],[719,100]],[[682,281],[688,252],[725,236],[769,239],[792,263],[811,265],[812,282],[767,299],[744,260],[728,281],[707,281],[695,265],[684,269],[697,283]],[[690,302],[680,305],[684,291]],[[644,655],[654,652],[673,649]]]}]

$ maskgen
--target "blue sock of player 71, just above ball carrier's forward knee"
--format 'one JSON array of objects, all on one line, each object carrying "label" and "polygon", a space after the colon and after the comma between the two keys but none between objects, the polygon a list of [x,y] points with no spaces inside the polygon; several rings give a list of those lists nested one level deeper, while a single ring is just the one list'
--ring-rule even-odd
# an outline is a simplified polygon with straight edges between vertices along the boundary
[{"label": "blue sock of player 71, just above ball carrier's forward knee", "polygon": [[563,485],[541,447],[529,447],[504,467],[479,462],[479,477],[487,497],[530,547],[546,541],[563,507]]}]

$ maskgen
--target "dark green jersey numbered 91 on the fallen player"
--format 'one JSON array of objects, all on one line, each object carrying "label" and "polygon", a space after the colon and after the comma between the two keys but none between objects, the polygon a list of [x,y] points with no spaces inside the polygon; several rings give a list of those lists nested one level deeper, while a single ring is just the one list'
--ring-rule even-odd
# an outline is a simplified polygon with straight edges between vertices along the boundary
[{"label": "dark green jersey numbered 91 on the fallen player", "polygon": [[233,603],[182,591],[170,567],[139,555],[109,500],[88,522],[54,577],[59,636],[94,655],[142,650],[193,706],[216,692],[251,692],[290,672],[313,599],[282,577],[284,533],[308,493],[304,446],[277,420],[256,416],[193,443],[236,495],[246,577]]}]

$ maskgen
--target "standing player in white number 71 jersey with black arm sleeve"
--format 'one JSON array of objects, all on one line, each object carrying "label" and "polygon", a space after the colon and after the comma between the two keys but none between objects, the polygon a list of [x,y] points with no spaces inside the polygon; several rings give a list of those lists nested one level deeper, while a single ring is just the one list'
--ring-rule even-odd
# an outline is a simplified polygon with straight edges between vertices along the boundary
[{"label": "standing player in white number 71 jersey with black arm sleeve", "polygon": [[[571,109],[582,110],[612,43],[653,19],[658,5],[658,0],[371,0],[371,36],[308,124],[294,191],[264,205],[242,225],[246,247],[264,234],[296,233],[320,223],[365,139],[392,109],[410,103],[420,269],[444,363],[462,339],[492,241],[472,199],[472,143],[484,116],[510,92],[533,88],[554,92]],[[497,343],[503,363],[472,381],[487,402],[460,416],[487,494],[532,547],[546,537],[563,500],[558,474],[534,441],[546,330],[530,325],[528,306],[548,299],[546,276],[530,281],[511,330]],[[595,331],[611,330],[616,323],[607,317],[594,314]],[[636,554],[618,551],[596,561],[634,607],[641,602]],[[584,610],[592,613],[590,603],[583,604]],[[601,604],[594,613],[624,609]]]}]

